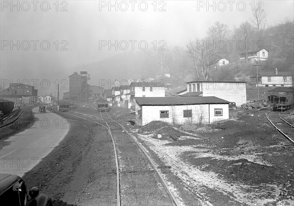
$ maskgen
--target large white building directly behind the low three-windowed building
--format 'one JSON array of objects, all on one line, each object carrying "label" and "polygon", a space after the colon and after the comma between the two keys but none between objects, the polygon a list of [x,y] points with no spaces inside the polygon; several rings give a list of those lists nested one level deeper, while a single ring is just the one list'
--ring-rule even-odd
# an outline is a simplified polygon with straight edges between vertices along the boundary
[{"label": "large white building directly behind the low three-windowed building", "polygon": [[246,82],[203,81],[186,82],[187,89],[177,92],[178,96],[216,96],[241,106],[246,102]]}]

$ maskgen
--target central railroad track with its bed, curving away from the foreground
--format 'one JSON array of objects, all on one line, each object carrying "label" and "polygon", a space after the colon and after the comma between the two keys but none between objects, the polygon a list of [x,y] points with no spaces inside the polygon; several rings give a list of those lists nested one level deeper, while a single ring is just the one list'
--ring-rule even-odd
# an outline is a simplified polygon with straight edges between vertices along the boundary
[{"label": "central railroad track with its bed, curving away from the foreground", "polygon": [[[145,204],[148,202],[147,205],[179,205],[147,151],[121,123],[110,118],[108,114],[100,113],[99,116],[67,114],[97,123],[108,130],[114,145],[116,159],[117,206],[140,206],[143,204],[140,198],[144,199]],[[148,187],[150,191],[146,191]],[[129,197],[135,199],[130,202]],[[161,202],[158,203],[158,200]]]}]

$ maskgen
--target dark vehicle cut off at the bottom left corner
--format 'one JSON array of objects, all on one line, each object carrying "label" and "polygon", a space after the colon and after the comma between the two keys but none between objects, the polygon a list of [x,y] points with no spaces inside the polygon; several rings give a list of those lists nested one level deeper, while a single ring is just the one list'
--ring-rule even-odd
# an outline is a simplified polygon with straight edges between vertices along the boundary
[{"label": "dark vehicle cut off at the bottom left corner", "polygon": [[[30,206],[30,202],[35,201],[35,206],[52,206],[52,200],[49,196],[39,194],[30,197],[27,194],[25,181],[17,175],[0,173],[0,204],[1,206]],[[32,193],[30,194],[31,196]],[[30,198],[29,198],[30,197]]]}]

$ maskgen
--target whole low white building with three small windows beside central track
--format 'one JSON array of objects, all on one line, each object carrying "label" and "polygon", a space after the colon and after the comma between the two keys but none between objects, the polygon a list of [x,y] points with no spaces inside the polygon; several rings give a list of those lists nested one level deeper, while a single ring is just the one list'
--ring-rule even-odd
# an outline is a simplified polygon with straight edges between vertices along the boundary
[{"label": "whole low white building with three small windows beside central track", "polygon": [[172,124],[212,124],[229,119],[229,102],[215,96],[196,97],[135,97],[136,124],[151,121]]}]

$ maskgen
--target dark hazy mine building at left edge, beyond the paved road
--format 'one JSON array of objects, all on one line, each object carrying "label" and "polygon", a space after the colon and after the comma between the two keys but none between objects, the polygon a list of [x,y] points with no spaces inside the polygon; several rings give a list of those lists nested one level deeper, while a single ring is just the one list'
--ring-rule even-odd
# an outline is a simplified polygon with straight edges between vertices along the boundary
[{"label": "dark hazy mine building at left edge, beyond the paved road", "polygon": [[0,92],[1,99],[7,99],[18,105],[34,105],[38,101],[38,90],[34,86],[21,83],[11,83],[8,88]]}]

